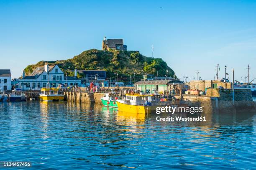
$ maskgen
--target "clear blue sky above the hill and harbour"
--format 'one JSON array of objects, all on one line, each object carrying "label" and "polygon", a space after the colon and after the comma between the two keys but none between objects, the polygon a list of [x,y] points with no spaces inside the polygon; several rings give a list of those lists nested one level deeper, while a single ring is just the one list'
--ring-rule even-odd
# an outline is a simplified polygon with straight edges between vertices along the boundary
[{"label": "clear blue sky above the hill and harbour", "polygon": [[[215,66],[256,77],[256,0],[0,0],[0,69],[12,77],[28,64],[101,49],[104,36],[128,50],[163,58],[183,80],[213,79]],[[254,81],[256,82],[256,81]]]}]

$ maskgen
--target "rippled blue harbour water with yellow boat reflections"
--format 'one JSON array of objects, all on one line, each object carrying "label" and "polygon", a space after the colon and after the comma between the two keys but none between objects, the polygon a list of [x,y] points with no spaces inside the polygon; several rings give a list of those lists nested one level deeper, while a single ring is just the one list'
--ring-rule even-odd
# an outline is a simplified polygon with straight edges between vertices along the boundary
[{"label": "rippled blue harbour water with yellow boat reflections", "polygon": [[100,105],[2,102],[0,161],[29,161],[30,169],[255,168],[255,113],[205,115],[207,123],[193,126]]}]

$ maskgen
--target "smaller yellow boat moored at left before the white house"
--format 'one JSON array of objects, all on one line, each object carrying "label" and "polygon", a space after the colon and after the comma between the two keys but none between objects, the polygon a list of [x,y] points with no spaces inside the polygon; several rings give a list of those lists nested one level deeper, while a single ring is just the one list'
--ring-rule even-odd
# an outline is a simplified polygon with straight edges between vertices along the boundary
[{"label": "smaller yellow boat moored at left before the white house", "polygon": [[59,94],[58,88],[42,88],[39,95],[42,101],[63,101],[64,95]]}]

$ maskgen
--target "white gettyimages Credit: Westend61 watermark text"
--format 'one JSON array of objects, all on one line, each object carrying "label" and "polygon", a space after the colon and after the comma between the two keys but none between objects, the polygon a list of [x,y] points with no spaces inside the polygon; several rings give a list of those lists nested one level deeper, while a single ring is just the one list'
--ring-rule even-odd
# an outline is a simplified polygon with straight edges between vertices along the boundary
[{"label": "white gettyimages Credit: Westend61 watermark text", "polygon": [[[202,113],[202,107],[171,107],[171,106],[165,106],[165,107],[157,107],[156,108],[156,114],[160,113]],[[206,121],[205,117],[156,117],[156,121]]]}]

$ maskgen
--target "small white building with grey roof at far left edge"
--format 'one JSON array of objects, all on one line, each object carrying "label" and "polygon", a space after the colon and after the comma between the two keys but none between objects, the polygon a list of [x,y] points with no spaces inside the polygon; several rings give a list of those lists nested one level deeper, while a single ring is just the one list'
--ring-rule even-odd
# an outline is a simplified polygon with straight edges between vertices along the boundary
[{"label": "small white building with grey roof at far left edge", "polygon": [[12,90],[10,70],[0,70],[0,91]]}]

